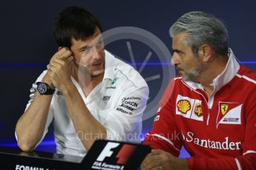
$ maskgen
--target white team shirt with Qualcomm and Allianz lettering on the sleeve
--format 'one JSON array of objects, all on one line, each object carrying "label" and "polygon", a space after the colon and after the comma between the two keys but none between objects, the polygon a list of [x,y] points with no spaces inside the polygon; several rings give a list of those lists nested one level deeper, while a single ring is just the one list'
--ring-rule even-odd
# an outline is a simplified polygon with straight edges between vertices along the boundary
[{"label": "white team shirt with Qualcomm and Allianz lettering on the sleeve", "polygon": [[[36,82],[42,81],[46,72],[47,70],[42,72]],[[74,78],[72,81],[91,114],[105,127],[106,139],[140,142],[142,113],[145,110],[149,90],[145,80],[133,67],[105,50],[103,80],[87,97],[78,82]],[[30,101],[28,101],[26,109],[33,101],[36,83],[33,84],[30,92]],[[88,150],[85,149],[74,129],[68,107],[65,104],[65,97],[58,89],[54,92],[50,103],[42,139],[51,122],[54,126],[57,153],[85,156]],[[91,136],[82,134],[82,132],[80,135],[85,138]]]}]

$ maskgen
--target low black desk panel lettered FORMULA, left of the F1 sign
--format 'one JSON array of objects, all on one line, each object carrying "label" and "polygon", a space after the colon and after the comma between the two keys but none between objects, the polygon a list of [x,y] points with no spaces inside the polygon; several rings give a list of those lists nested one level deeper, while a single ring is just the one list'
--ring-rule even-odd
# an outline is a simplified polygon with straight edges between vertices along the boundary
[{"label": "low black desk panel lettered FORMULA, left of the F1 sign", "polygon": [[0,146],[0,165],[4,169],[82,169],[84,157],[50,152],[22,152],[18,148]]}]

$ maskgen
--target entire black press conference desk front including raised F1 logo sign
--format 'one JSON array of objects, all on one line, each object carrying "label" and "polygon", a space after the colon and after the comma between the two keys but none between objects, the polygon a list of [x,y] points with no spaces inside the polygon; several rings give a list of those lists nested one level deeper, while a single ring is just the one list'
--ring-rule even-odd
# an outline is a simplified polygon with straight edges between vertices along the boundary
[{"label": "entire black press conference desk front including raised F1 logo sign", "polygon": [[15,170],[138,169],[151,152],[149,146],[111,140],[96,140],[85,157],[50,152],[22,152],[0,146],[0,166]]}]

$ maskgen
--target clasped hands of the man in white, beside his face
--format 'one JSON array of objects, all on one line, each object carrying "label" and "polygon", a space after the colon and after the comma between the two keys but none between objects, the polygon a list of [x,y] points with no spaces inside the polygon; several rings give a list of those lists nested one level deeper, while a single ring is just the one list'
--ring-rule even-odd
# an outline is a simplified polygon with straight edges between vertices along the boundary
[{"label": "clasped hands of the man in white, beside his face", "polygon": [[64,92],[68,89],[71,81],[71,68],[73,65],[72,52],[64,47],[53,55],[50,63],[47,65],[47,74],[55,86],[60,91]]}]

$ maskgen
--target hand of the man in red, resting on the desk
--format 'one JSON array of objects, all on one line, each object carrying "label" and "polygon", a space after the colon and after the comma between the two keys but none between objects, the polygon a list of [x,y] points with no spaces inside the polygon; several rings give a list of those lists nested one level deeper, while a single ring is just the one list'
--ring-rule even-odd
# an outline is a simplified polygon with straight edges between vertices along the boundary
[{"label": "hand of the man in red, resting on the desk", "polygon": [[188,169],[186,159],[180,159],[174,155],[164,152],[160,149],[152,149],[141,164],[142,170],[159,170],[159,169]]}]

